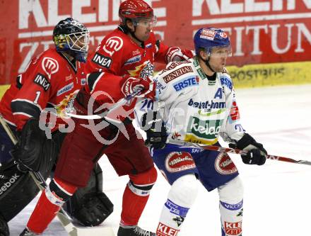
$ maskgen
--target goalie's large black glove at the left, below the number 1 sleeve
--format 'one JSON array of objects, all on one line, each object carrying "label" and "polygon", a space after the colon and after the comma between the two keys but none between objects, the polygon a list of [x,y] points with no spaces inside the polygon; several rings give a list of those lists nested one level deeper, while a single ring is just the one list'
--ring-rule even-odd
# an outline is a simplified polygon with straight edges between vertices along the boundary
[{"label": "goalie's large black glove at the left, below the number 1 sleeve", "polygon": [[18,162],[20,171],[37,172],[46,139],[45,131],[39,128],[39,120],[30,118],[23,126],[23,130],[18,136],[18,143],[11,151],[13,158]]}]

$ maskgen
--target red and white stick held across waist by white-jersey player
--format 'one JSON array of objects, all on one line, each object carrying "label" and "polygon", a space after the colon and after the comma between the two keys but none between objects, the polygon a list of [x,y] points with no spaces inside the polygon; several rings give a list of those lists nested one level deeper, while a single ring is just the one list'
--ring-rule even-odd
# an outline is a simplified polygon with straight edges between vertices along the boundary
[{"label": "red and white stick held across waist by white-jersey player", "polygon": [[[214,145],[201,145],[199,143],[193,143],[193,142],[184,142],[184,141],[180,141],[180,140],[168,140],[167,143],[173,144],[173,145],[182,145],[185,147],[195,147],[195,148],[201,148],[204,150],[212,150],[212,151],[217,151],[217,152],[227,152],[227,153],[233,153],[233,154],[247,154],[246,151],[243,150],[238,150],[238,149],[233,149],[230,147],[218,147],[218,146],[214,146]],[[281,162],[291,162],[291,163],[295,163],[295,164],[307,164],[307,165],[311,165],[311,162],[309,161],[305,161],[305,160],[295,160],[295,159],[291,159],[288,157],[280,157],[280,156],[274,156],[274,155],[270,155],[268,154],[266,156],[267,159],[273,159],[275,161],[281,161]]]}]

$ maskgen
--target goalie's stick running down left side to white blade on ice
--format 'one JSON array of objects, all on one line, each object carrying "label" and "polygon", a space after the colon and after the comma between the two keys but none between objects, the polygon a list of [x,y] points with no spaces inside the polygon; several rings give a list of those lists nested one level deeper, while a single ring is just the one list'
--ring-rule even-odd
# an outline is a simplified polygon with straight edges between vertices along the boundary
[{"label": "goalie's stick running down left side to white blade on ice", "polygon": [[[11,128],[6,123],[6,120],[4,120],[4,117],[0,113],[0,123],[4,130],[6,130],[6,133],[10,137],[11,141],[14,145],[17,144],[18,139],[16,135],[12,132]],[[37,187],[43,191],[47,187],[47,183],[45,182],[45,179],[43,178],[42,174],[40,172],[29,172],[30,176],[33,178],[33,181],[35,181],[35,184]],[[113,232],[111,227],[77,227],[73,223],[71,223],[69,215],[66,213],[66,211],[61,208],[59,212],[57,213],[57,218],[61,222],[61,225],[63,225],[64,229],[70,236],[115,236],[115,233]]]}]

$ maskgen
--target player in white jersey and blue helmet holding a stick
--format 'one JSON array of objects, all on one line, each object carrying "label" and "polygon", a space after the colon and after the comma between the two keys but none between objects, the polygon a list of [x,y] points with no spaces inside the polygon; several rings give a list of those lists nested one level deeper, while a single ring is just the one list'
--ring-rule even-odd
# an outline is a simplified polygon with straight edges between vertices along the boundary
[{"label": "player in white jersey and blue helmet holding a stick", "polygon": [[[194,45],[194,59],[172,62],[155,77],[153,110],[141,116],[153,160],[171,184],[156,235],[178,234],[199,181],[207,191],[218,189],[222,235],[242,235],[243,187],[228,154],[165,143],[168,138],[219,145],[221,136],[230,147],[248,151],[242,156],[245,164],[266,161],[262,144],[240,124],[233,82],[223,73],[231,55],[228,35],[218,28],[201,28]],[[142,101],[136,113],[145,112],[148,104]]]}]

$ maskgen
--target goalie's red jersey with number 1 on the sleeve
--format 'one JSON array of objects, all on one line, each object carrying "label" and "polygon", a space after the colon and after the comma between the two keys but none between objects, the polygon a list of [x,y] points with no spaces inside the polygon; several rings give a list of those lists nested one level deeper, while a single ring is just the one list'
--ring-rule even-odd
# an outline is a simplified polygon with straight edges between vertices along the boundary
[{"label": "goalie's red jersey with number 1 on the sleeve", "polygon": [[[56,49],[46,50],[34,57],[25,72],[13,81],[1,99],[0,112],[18,130],[30,117],[39,118],[45,108],[53,108],[60,117],[83,84],[86,84],[83,63],[71,64]],[[59,123],[66,122],[58,118]]]}]

